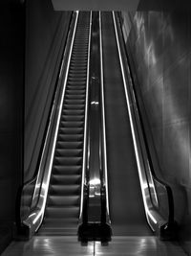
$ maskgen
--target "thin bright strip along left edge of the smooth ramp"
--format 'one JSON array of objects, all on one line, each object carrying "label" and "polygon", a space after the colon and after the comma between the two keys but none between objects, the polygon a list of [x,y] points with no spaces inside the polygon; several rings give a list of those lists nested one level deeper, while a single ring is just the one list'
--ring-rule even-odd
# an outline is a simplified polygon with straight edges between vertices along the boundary
[{"label": "thin bright strip along left edge of the smooth ramp", "polygon": [[103,151],[104,151],[104,171],[105,171],[105,188],[106,188],[106,207],[108,215],[109,198],[108,198],[108,171],[107,171],[107,151],[106,151],[106,133],[105,133],[105,103],[104,103],[104,89],[103,89],[103,51],[102,51],[102,26],[101,26],[101,12],[99,12],[99,45],[100,45],[100,70],[101,70],[101,102],[102,102],[102,123],[103,123]]}]

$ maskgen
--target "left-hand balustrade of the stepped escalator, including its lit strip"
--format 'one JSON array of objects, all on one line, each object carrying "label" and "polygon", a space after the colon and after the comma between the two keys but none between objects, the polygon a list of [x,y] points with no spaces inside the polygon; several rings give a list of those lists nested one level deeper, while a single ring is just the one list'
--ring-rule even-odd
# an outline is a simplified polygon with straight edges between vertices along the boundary
[{"label": "left-hand balustrade of the stepped escalator, including its lit strip", "polygon": [[[41,163],[40,163],[39,171],[37,175],[36,186],[35,186],[35,191],[37,192],[35,193],[34,191],[34,196],[33,196],[33,199],[36,200],[35,205],[33,205],[35,207],[32,207],[33,210],[30,216],[26,220],[22,221],[23,226],[26,227],[28,230],[28,237],[32,237],[33,233],[38,229],[44,217],[44,210],[45,210],[46,199],[48,194],[49,181],[50,181],[51,170],[53,165],[53,154],[54,154],[54,148],[55,148],[55,143],[57,138],[57,132],[59,128],[62,105],[64,101],[64,96],[65,96],[65,89],[66,89],[66,83],[68,79],[70,60],[72,56],[77,19],[78,19],[78,12],[74,12],[74,19],[73,19],[74,22],[72,21],[74,23],[74,27],[72,26],[71,33],[70,33],[70,36],[72,36],[72,42],[71,40],[68,41],[67,45],[68,47],[70,47],[70,49],[68,49],[68,47],[66,47],[65,49],[66,55],[64,55],[62,59],[61,69],[59,73],[58,86],[60,87],[61,93],[57,93],[56,101],[53,102],[53,110],[50,118],[51,122],[49,124],[48,132],[46,135],[46,141],[43,148]],[[69,53],[68,53],[68,50],[70,50]],[[65,67],[65,61],[67,61],[66,67]],[[37,195],[35,196],[35,194]]]}]

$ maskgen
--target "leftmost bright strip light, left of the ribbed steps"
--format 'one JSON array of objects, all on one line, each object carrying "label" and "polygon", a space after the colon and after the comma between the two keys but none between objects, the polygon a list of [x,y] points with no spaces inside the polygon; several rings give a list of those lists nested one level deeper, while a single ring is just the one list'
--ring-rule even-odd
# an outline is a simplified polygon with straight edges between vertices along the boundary
[{"label": "leftmost bright strip light, left of the ribbed steps", "polygon": [[[64,80],[64,86],[63,86],[63,91],[62,91],[62,96],[61,96],[61,101],[60,101],[60,106],[59,106],[59,112],[58,112],[58,118],[57,118],[57,124],[56,124],[56,129],[55,129],[54,138],[53,138],[53,150],[52,150],[51,161],[50,161],[49,170],[48,170],[48,176],[47,176],[46,183],[42,184],[42,188],[44,189],[44,196],[40,195],[40,197],[42,198],[43,203],[42,203],[42,207],[40,208],[40,211],[38,212],[38,214],[36,215],[36,217],[32,221],[33,224],[35,224],[36,221],[38,221],[38,219],[40,217],[42,217],[41,218],[41,221],[42,221],[43,215],[44,215],[44,212],[45,212],[45,206],[46,206],[46,200],[47,200],[47,195],[48,195],[50,177],[51,177],[51,173],[52,173],[51,171],[52,171],[52,168],[53,168],[53,155],[54,155],[55,144],[56,144],[56,139],[57,139],[57,132],[58,132],[59,123],[60,123],[62,105],[63,105],[63,101],[64,101],[66,83],[67,83],[67,79],[68,79],[68,73],[69,73],[70,60],[71,60],[72,50],[73,50],[73,45],[74,45],[74,35],[75,35],[77,20],[78,20],[78,11],[76,12],[76,18],[75,18],[75,24],[74,24],[74,34],[73,34],[73,38],[72,38],[72,46],[71,46],[71,49],[70,49],[69,59],[68,59],[68,63],[67,63],[66,76],[65,76],[65,80]],[[31,217],[32,216],[30,216],[29,218],[31,218]],[[40,224],[41,224],[41,222],[39,223],[39,225]],[[37,229],[38,229],[38,227],[36,228],[36,230]]]}]

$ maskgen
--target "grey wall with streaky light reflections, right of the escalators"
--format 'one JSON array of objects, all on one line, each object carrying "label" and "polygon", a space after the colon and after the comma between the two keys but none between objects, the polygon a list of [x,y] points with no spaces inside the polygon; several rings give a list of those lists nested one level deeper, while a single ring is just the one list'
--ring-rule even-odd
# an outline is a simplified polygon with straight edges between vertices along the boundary
[{"label": "grey wall with streaky light reflections, right of the escalators", "polygon": [[[127,47],[139,102],[157,152],[159,176],[172,185],[183,236],[191,222],[191,13],[137,12]],[[148,135],[148,134],[147,134]],[[187,227],[186,227],[187,226]]]}]

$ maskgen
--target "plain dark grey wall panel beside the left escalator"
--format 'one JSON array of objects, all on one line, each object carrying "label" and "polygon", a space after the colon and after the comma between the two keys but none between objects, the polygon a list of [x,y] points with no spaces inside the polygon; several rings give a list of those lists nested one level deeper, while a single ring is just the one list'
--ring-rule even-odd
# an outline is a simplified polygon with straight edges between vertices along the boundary
[{"label": "plain dark grey wall panel beside the left escalator", "polygon": [[36,171],[70,17],[54,12],[51,0],[27,1],[25,181]]}]

